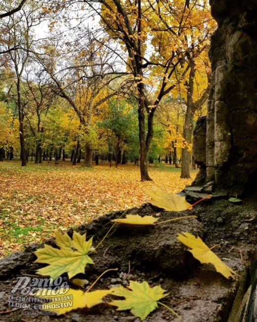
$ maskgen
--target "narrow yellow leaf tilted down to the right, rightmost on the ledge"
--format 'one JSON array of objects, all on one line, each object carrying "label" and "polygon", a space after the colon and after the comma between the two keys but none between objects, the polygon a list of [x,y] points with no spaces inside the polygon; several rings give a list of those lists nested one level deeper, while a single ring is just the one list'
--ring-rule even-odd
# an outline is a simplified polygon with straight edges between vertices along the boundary
[{"label": "narrow yellow leaf tilted down to the right, rightmost on the ledge", "polygon": [[224,264],[214,252],[202,241],[200,237],[195,237],[188,232],[178,234],[177,239],[187,247],[191,248],[188,250],[191,252],[199,262],[202,264],[213,264],[216,271],[221,273],[226,278],[235,278],[237,275],[231,268]]}]

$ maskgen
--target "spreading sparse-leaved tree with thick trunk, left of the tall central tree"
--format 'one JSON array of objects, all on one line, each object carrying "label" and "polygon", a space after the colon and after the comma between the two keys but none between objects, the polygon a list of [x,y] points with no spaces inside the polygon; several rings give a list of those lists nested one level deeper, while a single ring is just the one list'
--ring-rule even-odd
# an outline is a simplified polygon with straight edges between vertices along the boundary
[{"label": "spreading sparse-leaved tree with thick trunk, left of the tall central tree", "polygon": [[[45,55],[38,56],[38,59],[52,81],[52,91],[65,99],[80,119],[85,144],[85,165],[90,167],[93,152],[91,139],[94,137],[90,131],[92,117],[99,114],[106,101],[118,95],[122,87],[111,87],[117,78],[112,76],[113,67],[109,64],[112,51],[106,50],[97,42],[90,31],[87,31],[85,37],[86,49],[82,48],[76,54],[75,49],[69,49],[73,58],[66,57],[66,66],[63,66],[64,59],[57,49],[58,44],[45,45]],[[58,68],[58,62],[62,64],[62,69]],[[79,135],[76,141],[74,164],[80,147]]]}]

